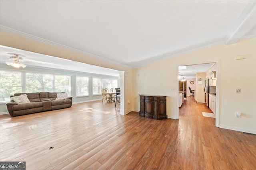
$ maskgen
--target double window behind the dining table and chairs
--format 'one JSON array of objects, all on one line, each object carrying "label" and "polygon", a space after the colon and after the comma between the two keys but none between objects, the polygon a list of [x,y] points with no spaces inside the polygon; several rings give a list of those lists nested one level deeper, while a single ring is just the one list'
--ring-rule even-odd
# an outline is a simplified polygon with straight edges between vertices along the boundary
[{"label": "double window behind the dining table and chairs", "polygon": [[117,79],[92,78],[93,94],[101,94],[102,88],[107,88],[110,92],[111,88],[117,88]]}]

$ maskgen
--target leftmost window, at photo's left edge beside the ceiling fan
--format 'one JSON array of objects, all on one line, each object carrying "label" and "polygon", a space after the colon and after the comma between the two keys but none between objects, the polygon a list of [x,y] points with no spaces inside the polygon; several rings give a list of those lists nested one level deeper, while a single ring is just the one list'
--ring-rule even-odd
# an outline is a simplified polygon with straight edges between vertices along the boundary
[{"label": "leftmost window, at photo's left edge beside the ceiling fan", "polygon": [[22,92],[21,72],[0,70],[0,102],[10,102],[10,96]]}]

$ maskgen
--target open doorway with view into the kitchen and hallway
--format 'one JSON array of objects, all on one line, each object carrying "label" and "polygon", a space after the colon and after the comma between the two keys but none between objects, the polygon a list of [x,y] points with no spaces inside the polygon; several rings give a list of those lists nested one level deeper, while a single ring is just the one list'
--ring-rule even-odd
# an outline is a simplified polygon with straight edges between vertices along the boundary
[{"label": "open doorway with view into the kitchen and hallway", "polygon": [[[206,84],[206,79],[211,78],[210,80],[214,80],[216,84],[213,86],[211,84],[210,86],[210,92],[216,96],[216,100],[214,100],[214,111],[215,111],[215,125],[216,127],[219,126],[219,62],[209,62],[209,63],[198,63],[198,64],[190,64],[190,65],[181,65],[178,66],[178,95],[177,95],[177,113],[176,117],[179,119],[179,113],[182,112],[189,112],[191,111],[191,107],[188,110],[186,107],[182,106],[180,107],[180,98],[184,98],[183,106],[186,105],[186,103],[189,103],[190,105],[194,106],[201,106],[200,108],[205,108],[204,110],[206,112],[211,112],[212,108],[209,109],[209,104],[206,104],[207,100],[209,100],[208,96],[209,94],[206,94],[204,88]],[[209,75],[211,73],[211,75]],[[211,77],[210,77],[211,76]],[[183,83],[186,82],[186,83]],[[186,90],[184,89],[186,84]],[[189,88],[191,90],[195,90],[194,94],[190,93]],[[181,90],[182,89],[182,90]],[[180,95],[181,92],[185,92],[186,97],[184,94],[182,94],[182,97]],[[207,90],[206,90],[207,91]],[[198,95],[198,96],[196,96]],[[194,101],[193,101],[194,100]],[[206,106],[207,105],[207,106]],[[194,109],[198,109],[199,107],[193,107]],[[199,110],[199,109],[198,109]],[[209,110],[209,111],[207,111]],[[213,112],[214,113],[214,112]],[[201,113],[202,114],[202,113]],[[183,116],[183,115],[182,115]]]}]

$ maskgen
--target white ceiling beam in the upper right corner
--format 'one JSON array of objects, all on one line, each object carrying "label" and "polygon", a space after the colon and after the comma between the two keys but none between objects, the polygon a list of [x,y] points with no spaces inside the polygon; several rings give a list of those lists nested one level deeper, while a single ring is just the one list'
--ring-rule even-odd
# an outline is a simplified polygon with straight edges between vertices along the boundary
[{"label": "white ceiling beam in the upper right corner", "polygon": [[251,0],[226,35],[225,44],[237,43],[254,25],[256,25],[256,1]]}]

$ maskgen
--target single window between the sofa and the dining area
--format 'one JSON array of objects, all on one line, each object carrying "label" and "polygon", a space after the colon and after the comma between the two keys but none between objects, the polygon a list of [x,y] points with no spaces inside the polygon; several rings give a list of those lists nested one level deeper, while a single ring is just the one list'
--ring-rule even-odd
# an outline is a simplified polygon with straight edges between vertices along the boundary
[{"label": "single window between the sofa and the dining area", "polygon": [[88,77],[76,76],[76,96],[88,96]]}]

